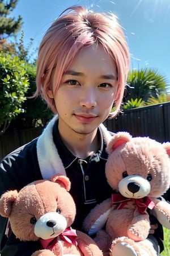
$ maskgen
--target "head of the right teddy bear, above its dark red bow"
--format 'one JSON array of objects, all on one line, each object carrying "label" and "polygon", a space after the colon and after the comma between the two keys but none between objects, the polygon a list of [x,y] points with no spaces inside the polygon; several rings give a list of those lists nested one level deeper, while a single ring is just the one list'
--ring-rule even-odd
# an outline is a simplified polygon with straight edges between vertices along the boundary
[{"label": "head of the right teddy bear, above its dark red bow", "polygon": [[141,199],[163,195],[170,186],[170,143],[148,137],[113,136],[105,173],[109,185],[122,196]]}]

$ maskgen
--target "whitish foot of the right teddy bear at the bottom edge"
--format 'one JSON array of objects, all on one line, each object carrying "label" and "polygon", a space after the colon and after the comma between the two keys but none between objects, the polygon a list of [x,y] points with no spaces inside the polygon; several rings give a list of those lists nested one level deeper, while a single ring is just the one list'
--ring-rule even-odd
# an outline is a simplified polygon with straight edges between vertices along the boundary
[{"label": "whitish foot of the right teddy bear at the bottom edge", "polygon": [[134,247],[129,243],[120,242],[116,243],[112,247],[112,256],[138,256],[138,253],[135,251]]}]

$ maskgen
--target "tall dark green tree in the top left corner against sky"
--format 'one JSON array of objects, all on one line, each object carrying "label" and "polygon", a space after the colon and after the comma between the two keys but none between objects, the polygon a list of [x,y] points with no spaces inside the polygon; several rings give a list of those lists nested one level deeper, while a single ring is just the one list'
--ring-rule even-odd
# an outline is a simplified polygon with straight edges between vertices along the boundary
[{"label": "tall dark green tree in the top left corner against sky", "polygon": [[22,16],[18,19],[12,18],[10,15],[18,4],[18,0],[0,1],[0,39],[8,36],[15,36],[22,27]]}]

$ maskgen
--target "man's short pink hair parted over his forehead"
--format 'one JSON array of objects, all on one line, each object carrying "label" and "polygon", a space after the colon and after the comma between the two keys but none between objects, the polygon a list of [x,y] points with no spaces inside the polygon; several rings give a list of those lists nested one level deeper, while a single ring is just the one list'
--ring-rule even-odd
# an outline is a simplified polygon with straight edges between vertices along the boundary
[{"label": "man's short pink hair parted over his forehead", "polygon": [[48,28],[40,44],[37,59],[35,95],[41,94],[54,113],[57,113],[56,106],[54,100],[48,97],[48,90],[53,86],[54,93],[57,92],[61,78],[76,53],[83,47],[95,43],[103,45],[116,63],[118,72],[116,110],[110,116],[114,117],[120,110],[130,59],[124,32],[115,15],[94,13],[82,6],[73,6],[63,11]]}]

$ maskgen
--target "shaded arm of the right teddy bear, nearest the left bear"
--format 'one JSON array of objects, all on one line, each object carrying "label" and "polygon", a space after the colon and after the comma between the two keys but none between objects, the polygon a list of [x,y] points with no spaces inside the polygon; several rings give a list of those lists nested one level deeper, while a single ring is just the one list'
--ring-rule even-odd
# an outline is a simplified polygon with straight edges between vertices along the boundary
[{"label": "shaded arm of the right teddy bear, nearest the left bear", "polygon": [[111,209],[111,199],[107,199],[101,204],[96,205],[96,207],[92,209],[85,218],[83,222],[83,229],[88,232],[90,236],[96,234],[100,229],[104,227]]}]

